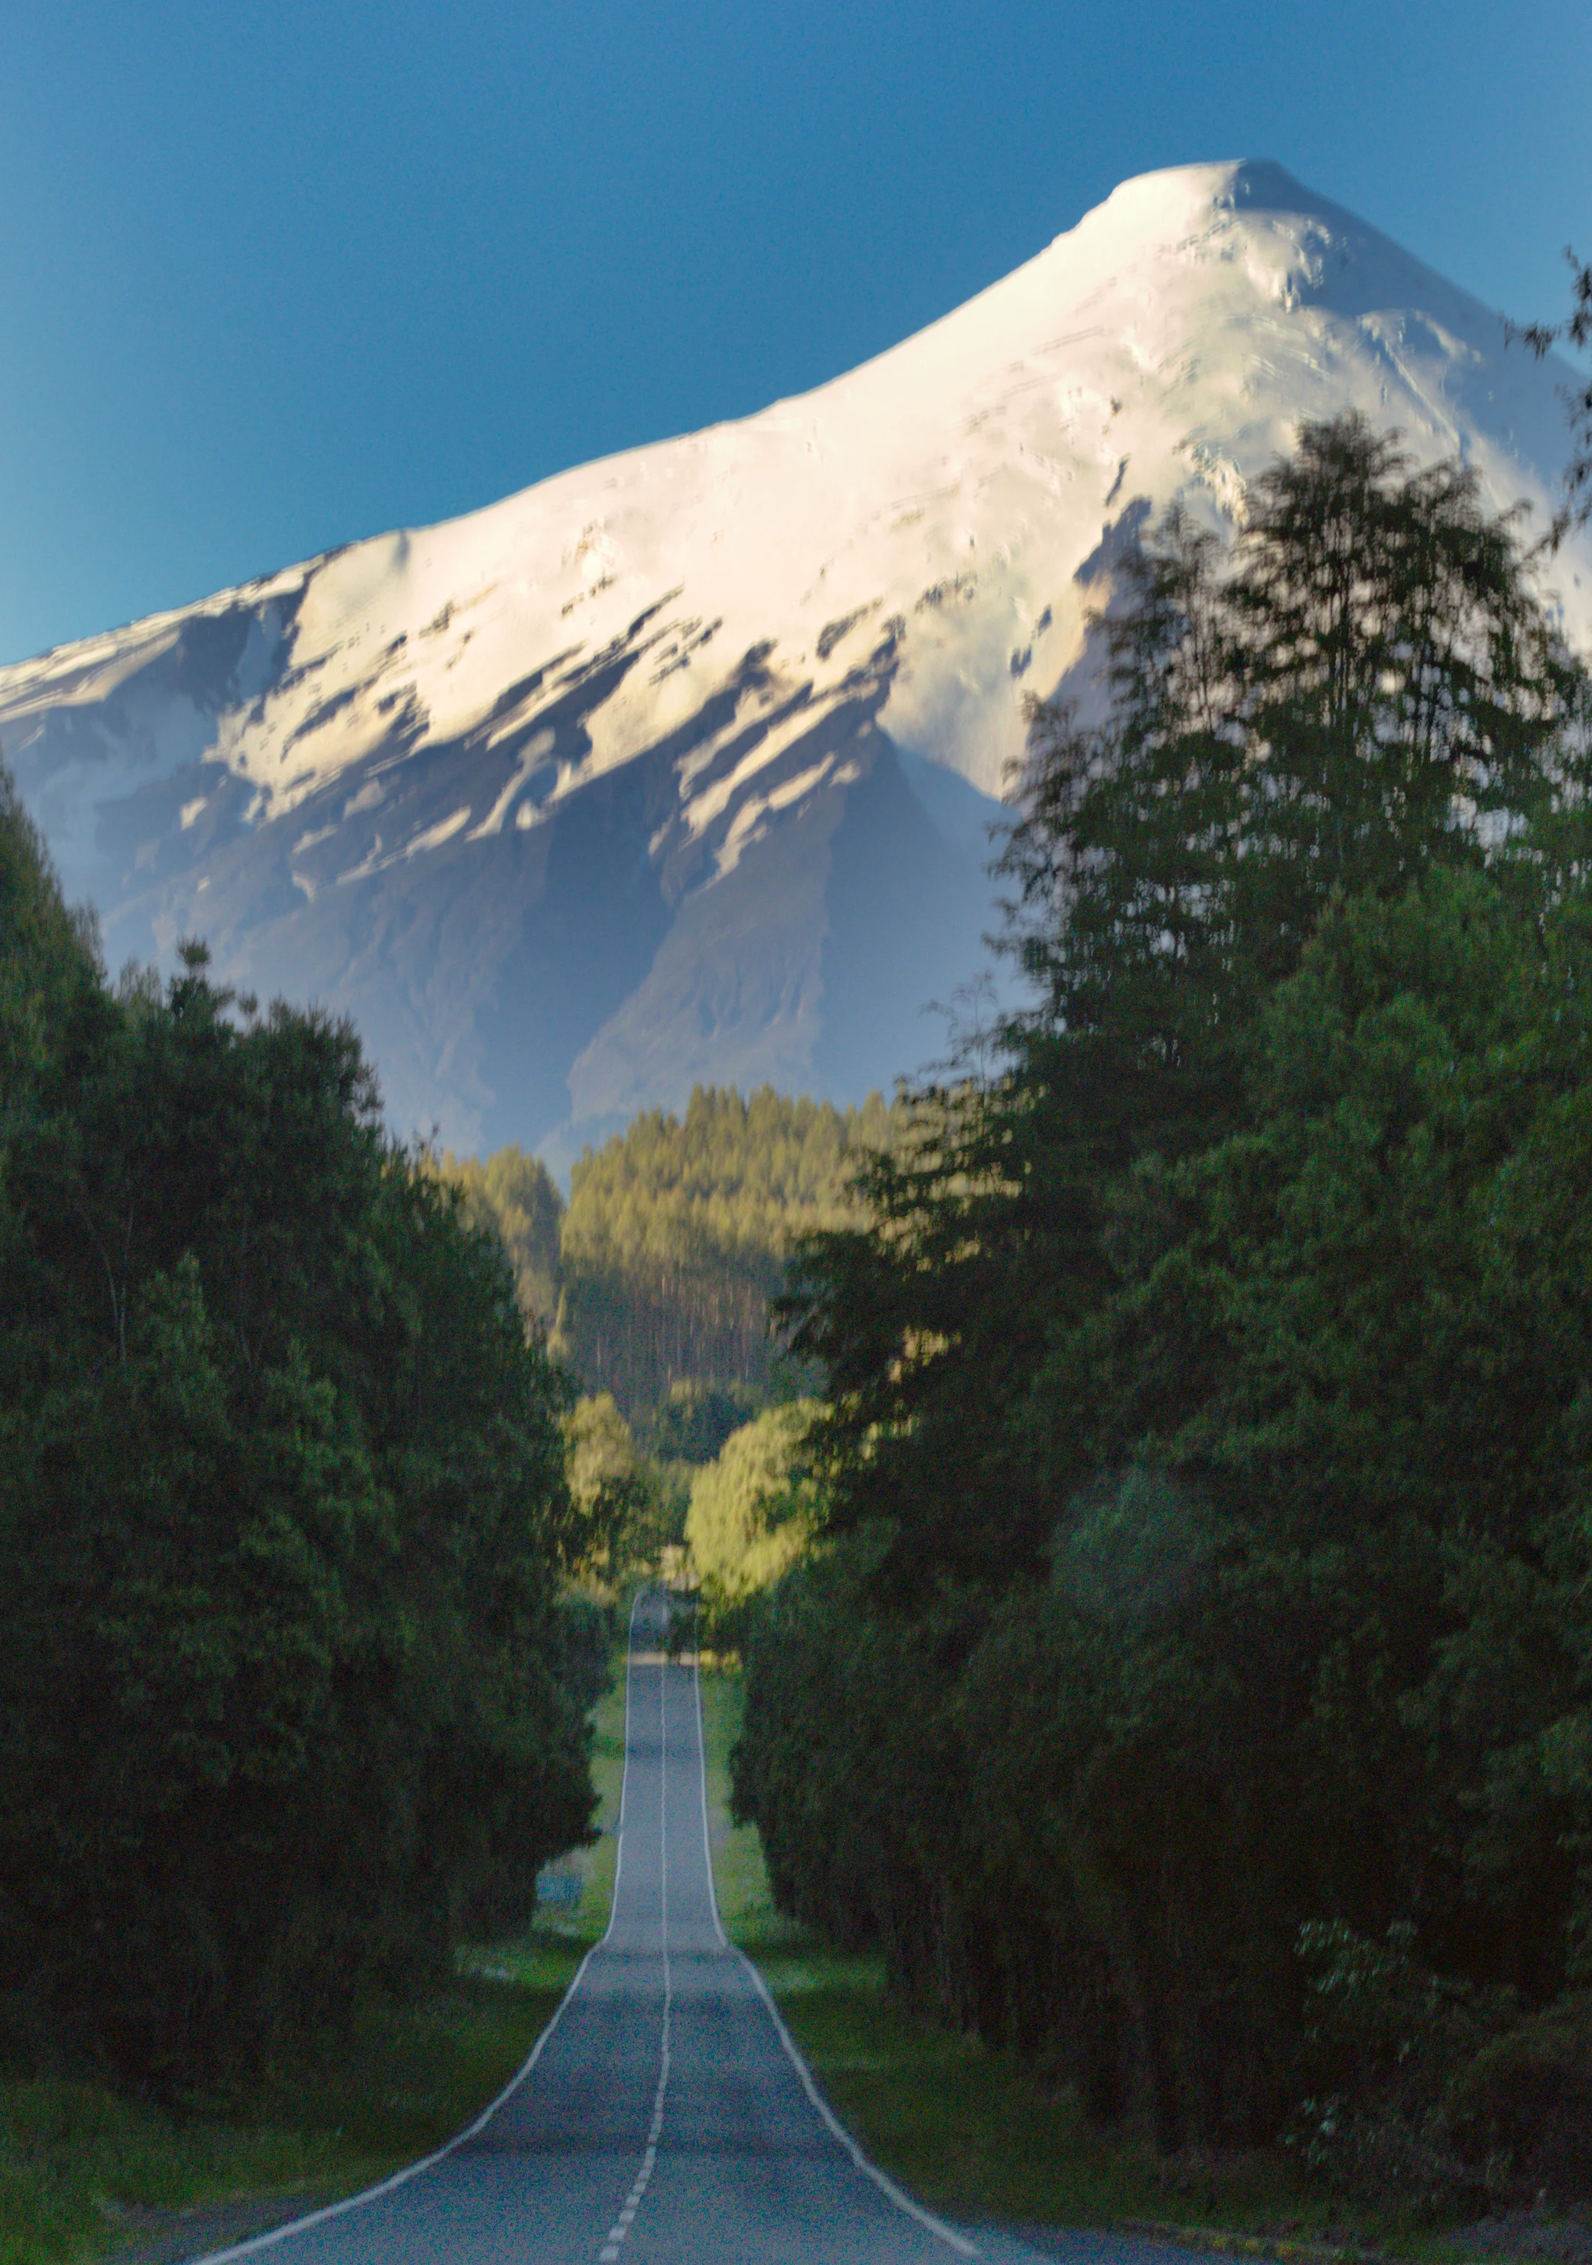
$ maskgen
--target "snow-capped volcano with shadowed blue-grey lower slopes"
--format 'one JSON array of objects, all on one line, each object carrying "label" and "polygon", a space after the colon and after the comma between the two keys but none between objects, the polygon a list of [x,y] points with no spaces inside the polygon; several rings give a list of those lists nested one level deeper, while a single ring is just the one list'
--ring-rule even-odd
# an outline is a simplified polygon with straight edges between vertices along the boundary
[{"label": "snow-capped volcano with shadowed blue-grey lower slopes", "polygon": [[1146,174],[813,394],[5,668],[0,745],[111,956],[353,1012],[405,1126],[858,1096],[1121,546],[1343,408],[1547,519],[1563,378],[1275,165]]}]

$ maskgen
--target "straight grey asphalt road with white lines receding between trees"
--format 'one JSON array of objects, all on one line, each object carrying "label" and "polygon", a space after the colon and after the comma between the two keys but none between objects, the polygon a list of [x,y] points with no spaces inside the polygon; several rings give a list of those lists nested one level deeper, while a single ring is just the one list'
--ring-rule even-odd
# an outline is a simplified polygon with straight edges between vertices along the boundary
[{"label": "straight grey asphalt road with white lines receding between trees", "polygon": [[[664,1658],[666,1617],[664,1597],[632,1617],[614,1916],[521,2075],[426,2163],[211,2265],[267,2251],[272,2265],[1037,2260],[944,2224],[863,2159],[727,1943],[697,1674]],[[1046,2238],[1078,2265],[1157,2247]]]}]

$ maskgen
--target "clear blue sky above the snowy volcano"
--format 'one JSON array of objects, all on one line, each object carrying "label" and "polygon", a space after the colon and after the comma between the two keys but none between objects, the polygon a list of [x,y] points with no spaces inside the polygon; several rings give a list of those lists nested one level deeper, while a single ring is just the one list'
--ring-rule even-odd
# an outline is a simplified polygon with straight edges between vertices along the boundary
[{"label": "clear blue sky above the snowy volcano", "polygon": [[741,417],[1227,156],[1554,317],[1592,5],[11,0],[0,661]]}]

